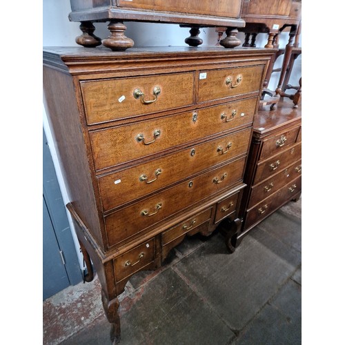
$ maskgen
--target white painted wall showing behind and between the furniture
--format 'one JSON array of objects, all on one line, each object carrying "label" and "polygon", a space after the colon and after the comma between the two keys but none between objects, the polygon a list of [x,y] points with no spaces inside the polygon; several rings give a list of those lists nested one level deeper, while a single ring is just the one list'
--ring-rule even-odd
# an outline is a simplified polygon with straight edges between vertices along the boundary
[{"label": "white painted wall showing behind and between the furniture", "polygon": [[[75,37],[81,34],[79,30],[79,23],[70,22],[68,14],[70,12],[70,0],[43,0],[43,46],[78,46],[75,43]],[[180,28],[177,24],[162,24],[162,23],[125,23],[127,26],[126,36],[135,41],[135,46],[186,46],[184,39],[189,36],[188,28]],[[104,39],[108,37],[108,29],[106,23],[95,23],[95,34]],[[215,46],[217,44],[218,34],[214,28],[203,28],[199,35],[204,40],[203,46]],[[244,41],[244,34],[237,35],[241,41]],[[285,46],[288,41],[288,33],[283,32],[280,37],[280,45]],[[264,47],[267,42],[267,34],[259,34],[257,36],[257,47]],[[300,41],[301,42],[301,41]],[[275,64],[275,68],[282,65],[283,57],[279,57]],[[293,75],[290,78],[290,83],[298,84],[301,76],[301,56],[295,61]],[[269,88],[275,90],[279,79],[279,73],[274,73],[270,79]],[[61,168],[59,159],[55,149],[53,135],[48,124],[46,110],[43,106],[43,128],[46,131],[46,136],[52,153],[52,159],[55,164],[57,178],[60,184],[63,201],[67,204],[70,201],[68,191],[61,175]],[[79,255],[79,264],[82,267],[83,259],[79,253],[79,244],[75,235],[75,230],[70,219],[70,226],[72,235],[75,239],[75,246]]]}]

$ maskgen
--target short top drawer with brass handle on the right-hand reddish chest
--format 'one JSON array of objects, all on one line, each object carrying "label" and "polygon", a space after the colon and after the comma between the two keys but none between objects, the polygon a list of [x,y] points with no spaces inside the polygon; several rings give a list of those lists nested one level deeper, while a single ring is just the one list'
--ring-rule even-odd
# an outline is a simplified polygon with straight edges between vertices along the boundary
[{"label": "short top drawer with brass handle on the right-hand reddish chest", "polygon": [[287,146],[295,144],[298,132],[299,127],[296,127],[291,130],[287,130],[286,132],[279,133],[279,135],[275,135],[275,137],[264,141],[260,159],[273,156],[284,150]]}]

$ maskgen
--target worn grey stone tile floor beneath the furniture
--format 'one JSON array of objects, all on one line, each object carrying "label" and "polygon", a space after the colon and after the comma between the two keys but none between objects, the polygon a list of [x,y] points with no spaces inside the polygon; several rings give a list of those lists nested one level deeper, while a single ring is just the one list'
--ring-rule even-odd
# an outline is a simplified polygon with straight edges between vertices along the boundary
[{"label": "worn grey stone tile floor beneath the furniture", "polygon": [[[119,297],[121,344],[301,344],[301,199],[229,254],[224,237],[186,238]],[[97,275],[43,302],[43,344],[110,344]]]}]

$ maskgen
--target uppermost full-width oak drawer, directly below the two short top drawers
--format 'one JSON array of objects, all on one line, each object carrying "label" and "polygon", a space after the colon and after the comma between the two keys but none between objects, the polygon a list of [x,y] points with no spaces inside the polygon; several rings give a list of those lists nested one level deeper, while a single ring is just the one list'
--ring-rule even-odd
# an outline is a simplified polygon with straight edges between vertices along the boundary
[{"label": "uppermost full-width oak drawer, directly below the two short top drawers", "polygon": [[[244,99],[194,112],[182,112],[138,121],[135,124],[92,131],[90,142],[95,169],[117,166],[126,161],[147,157],[168,148],[250,124],[253,121],[256,102],[256,98]],[[140,140],[140,136],[144,139]],[[148,144],[151,141],[153,142]]]}]

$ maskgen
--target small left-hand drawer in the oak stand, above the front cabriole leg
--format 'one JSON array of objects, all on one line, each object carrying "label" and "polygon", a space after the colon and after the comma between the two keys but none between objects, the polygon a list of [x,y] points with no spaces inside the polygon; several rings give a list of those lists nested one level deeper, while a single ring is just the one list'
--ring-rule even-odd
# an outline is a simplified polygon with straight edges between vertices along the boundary
[{"label": "small left-hand drawer in the oak stand, above the front cabriole leg", "polygon": [[117,282],[132,275],[155,259],[154,240],[141,244],[113,260]]}]

